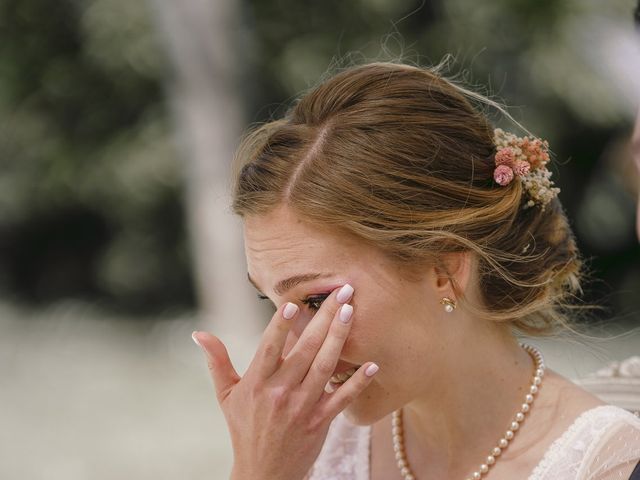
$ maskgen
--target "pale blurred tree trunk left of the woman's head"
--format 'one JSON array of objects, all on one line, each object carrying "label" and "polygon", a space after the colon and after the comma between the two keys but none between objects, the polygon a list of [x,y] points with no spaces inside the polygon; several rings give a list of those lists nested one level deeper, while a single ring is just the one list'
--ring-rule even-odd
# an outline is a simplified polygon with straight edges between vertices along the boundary
[{"label": "pale blurred tree trunk left of the woman's head", "polygon": [[[262,329],[249,294],[240,222],[229,205],[230,162],[242,132],[235,54],[237,2],[152,0],[174,75],[167,77],[184,150],[187,211],[200,311],[235,334]],[[240,57],[240,58],[239,58]],[[232,293],[232,295],[230,295]],[[238,321],[255,319],[256,321]]]}]

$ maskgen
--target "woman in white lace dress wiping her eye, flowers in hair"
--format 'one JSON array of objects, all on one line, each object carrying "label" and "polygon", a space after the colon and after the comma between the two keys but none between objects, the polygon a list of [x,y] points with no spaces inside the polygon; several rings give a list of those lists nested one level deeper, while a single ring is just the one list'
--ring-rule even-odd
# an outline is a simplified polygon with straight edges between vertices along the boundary
[{"label": "woman in white lace dress wiping her eye, flowers in hair", "polygon": [[234,210],[277,310],[243,377],[194,332],[234,480],[630,477],[640,419],[514,336],[562,325],[579,289],[546,142],[467,93],[364,65],[244,141]]}]

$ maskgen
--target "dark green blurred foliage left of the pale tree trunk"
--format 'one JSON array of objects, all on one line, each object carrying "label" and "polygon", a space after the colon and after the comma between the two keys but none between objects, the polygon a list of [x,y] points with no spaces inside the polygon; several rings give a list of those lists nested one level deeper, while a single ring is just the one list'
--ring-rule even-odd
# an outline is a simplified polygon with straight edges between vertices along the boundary
[{"label": "dark green blurred foliage left of the pale tree trunk", "polygon": [[0,277],[28,301],[192,305],[144,5],[0,3]]}]

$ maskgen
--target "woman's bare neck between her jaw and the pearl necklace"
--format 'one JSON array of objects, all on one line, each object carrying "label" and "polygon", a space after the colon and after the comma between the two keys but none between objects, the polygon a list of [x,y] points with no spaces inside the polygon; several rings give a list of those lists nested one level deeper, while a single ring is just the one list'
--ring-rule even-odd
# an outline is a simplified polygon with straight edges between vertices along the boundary
[{"label": "woman's bare neck between her jaw and the pearl necklace", "polygon": [[528,393],[534,361],[510,332],[494,326],[471,338],[462,355],[444,354],[429,390],[403,407],[405,451],[417,478],[466,478]]}]

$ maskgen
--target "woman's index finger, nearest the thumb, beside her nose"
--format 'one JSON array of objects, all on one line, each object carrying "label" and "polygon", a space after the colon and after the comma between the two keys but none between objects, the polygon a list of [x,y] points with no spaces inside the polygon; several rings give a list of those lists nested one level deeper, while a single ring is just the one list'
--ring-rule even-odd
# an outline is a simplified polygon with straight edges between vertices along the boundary
[{"label": "woman's index finger, nearest the thumb, beside her nose", "polygon": [[285,303],[271,317],[271,321],[262,335],[251,365],[247,372],[256,372],[261,378],[268,378],[282,362],[282,351],[293,325],[293,319],[300,309],[295,303]]}]

